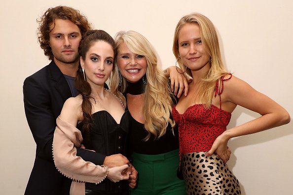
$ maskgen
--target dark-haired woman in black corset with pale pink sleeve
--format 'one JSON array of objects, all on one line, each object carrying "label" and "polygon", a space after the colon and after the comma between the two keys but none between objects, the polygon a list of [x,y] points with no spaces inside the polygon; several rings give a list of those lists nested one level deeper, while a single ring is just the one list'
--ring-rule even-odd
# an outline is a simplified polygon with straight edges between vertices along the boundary
[{"label": "dark-haired woman in black corset with pale pink sleeve", "polygon": [[[80,42],[81,66],[75,79],[80,95],[65,102],[53,140],[57,169],[73,179],[71,195],[129,195],[131,169],[123,155],[131,116],[125,112],[123,95],[104,89],[114,68],[115,48],[113,38],[100,30],[87,32]],[[75,147],[81,143],[101,155],[101,164],[76,156]]]}]

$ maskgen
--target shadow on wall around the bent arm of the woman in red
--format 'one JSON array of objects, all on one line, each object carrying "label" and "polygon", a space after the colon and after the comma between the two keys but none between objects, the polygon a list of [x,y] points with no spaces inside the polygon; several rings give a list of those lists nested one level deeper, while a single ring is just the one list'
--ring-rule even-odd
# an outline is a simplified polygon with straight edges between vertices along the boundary
[{"label": "shadow on wall around the bent arm of the woman in red", "polygon": [[[236,127],[237,119],[242,114],[246,114],[246,115],[250,116],[253,119],[258,118],[260,116],[258,113],[254,112],[254,111],[248,110],[248,109],[243,108],[241,106],[237,106],[236,109],[232,113],[232,118],[231,118],[231,121],[230,121],[229,125],[227,126],[227,130],[231,129],[233,127]],[[232,170],[233,167],[236,165],[237,158],[234,155],[234,152],[235,152],[235,150],[237,150],[237,148],[245,147],[245,146],[249,146],[249,145],[255,145],[255,144],[259,144],[259,143],[264,143],[264,142],[267,142],[267,141],[270,141],[270,140],[274,140],[276,138],[281,138],[281,137],[293,134],[293,131],[292,131],[293,125],[292,125],[292,123],[289,123],[289,124],[287,124],[285,126],[282,126],[281,128],[282,128],[282,130],[278,130],[277,133],[258,132],[258,133],[255,133],[253,136],[240,136],[240,137],[237,137],[237,138],[234,138],[234,139],[230,140],[228,142],[228,146],[232,151],[232,154],[231,154],[231,157],[230,157],[230,160],[229,160],[229,168],[230,168],[230,170]],[[240,184],[240,187],[241,187],[241,194],[246,195],[246,193],[244,192],[245,188],[240,183],[240,181],[239,181],[239,184]]]}]

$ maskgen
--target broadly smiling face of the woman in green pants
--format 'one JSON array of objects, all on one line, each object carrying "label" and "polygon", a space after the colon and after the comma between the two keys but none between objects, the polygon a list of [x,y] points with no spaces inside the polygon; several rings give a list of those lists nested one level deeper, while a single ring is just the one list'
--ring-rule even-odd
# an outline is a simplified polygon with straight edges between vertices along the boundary
[{"label": "broadly smiling face of the woman in green pants", "polygon": [[147,59],[131,52],[122,42],[118,46],[117,64],[121,75],[131,83],[138,82],[147,72]]}]

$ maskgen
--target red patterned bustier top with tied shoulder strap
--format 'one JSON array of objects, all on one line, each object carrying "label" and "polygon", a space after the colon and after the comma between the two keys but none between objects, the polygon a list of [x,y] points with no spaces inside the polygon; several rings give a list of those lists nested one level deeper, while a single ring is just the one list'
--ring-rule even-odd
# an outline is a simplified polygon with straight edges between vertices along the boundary
[{"label": "red patterned bustier top with tied shoulder strap", "polygon": [[[223,78],[224,76],[220,79],[221,89],[219,89],[219,83],[216,84],[215,97],[222,94],[223,81],[230,79]],[[194,104],[188,107],[183,114],[176,110],[175,105],[172,115],[179,126],[180,156],[209,151],[215,139],[226,130],[231,119],[231,113],[221,109],[221,100],[220,108],[211,105],[211,108],[207,109],[204,104]]]}]

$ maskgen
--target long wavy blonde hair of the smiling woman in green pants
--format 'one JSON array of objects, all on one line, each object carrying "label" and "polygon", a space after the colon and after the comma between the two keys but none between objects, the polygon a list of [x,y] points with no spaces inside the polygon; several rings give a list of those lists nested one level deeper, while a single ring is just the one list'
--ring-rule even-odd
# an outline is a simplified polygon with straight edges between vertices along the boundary
[{"label": "long wavy blonde hair of the smiling woman in green pants", "polygon": [[[175,126],[175,122],[170,118],[173,102],[170,97],[172,93],[168,86],[168,79],[164,76],[163,71],[157,68],[154,49],[142,34],[135,31],[121,31],[115,35],[114,39],[118,53],[120,44],[125,43],[131,52],[142,55],[147,60],[147,85],[143,113],[148,135],[145,140],[148,140],[151,134],[155,138],[159,138],[165,134],[168,123],[172,128]],[[115,66],[117,67],[117,61],[115,61]],[[122,77],[122,79],[122,86],[119,87],[118,67],[115,68],[110,83],[112,91],[116,91],[117,88],[121,93],[126,91],[127,82],[125,78]]]}]

